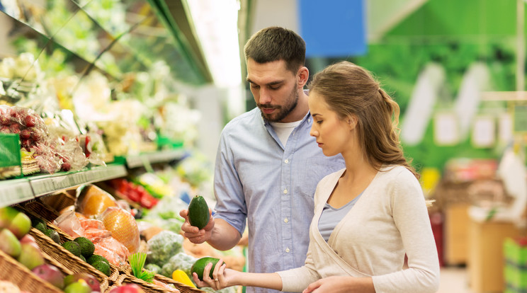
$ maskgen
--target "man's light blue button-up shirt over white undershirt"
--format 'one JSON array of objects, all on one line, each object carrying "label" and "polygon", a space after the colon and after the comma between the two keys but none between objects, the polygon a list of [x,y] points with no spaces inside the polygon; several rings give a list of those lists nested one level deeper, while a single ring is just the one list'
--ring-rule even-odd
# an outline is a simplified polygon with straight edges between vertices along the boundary
[{"label": "man's light blue button-up shirt over white undershirt", "polygon": [[[227,123],[215,166],[215,218],[240,234],[249,231],[249,272],[277,272],[304,265],[320,179],[344,168],[310,136],[308,114],[284,147],[259,108]],[[247,288],[248,292],[277,292]]]}]

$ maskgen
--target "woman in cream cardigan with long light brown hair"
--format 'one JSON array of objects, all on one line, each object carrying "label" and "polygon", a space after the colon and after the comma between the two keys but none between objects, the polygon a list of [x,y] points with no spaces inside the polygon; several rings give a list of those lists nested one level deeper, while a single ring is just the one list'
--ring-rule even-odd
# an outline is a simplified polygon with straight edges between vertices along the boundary
[{"label": "woman in cream cardigan with long light brown hair", "polygon": [[438,255],[417,174],[399,144],[399,106],[367,70],[350,62],[315,74],[309,87],[310,134],[324,155],[342,154],[346,168],[317,185],[305,265],[268,274],[218,265],[213,279],[208,265],[205,280],[193,276],[196,284],[306,293],[436,292]]}]

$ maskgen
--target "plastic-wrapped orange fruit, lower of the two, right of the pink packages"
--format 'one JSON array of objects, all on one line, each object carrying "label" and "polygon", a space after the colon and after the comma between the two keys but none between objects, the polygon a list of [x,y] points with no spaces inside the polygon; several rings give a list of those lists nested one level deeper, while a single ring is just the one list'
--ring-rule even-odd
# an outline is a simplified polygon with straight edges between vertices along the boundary
[{"label": "plastic-wrapped orange fruit, lower of the two, right of the pink packages", "polygon": [[108,207],[101,214],[101,221],[106,229],[112,232],[112,237],[123,243],[130,253],[139,251],[139,228],[130,212],[120,207]]}]

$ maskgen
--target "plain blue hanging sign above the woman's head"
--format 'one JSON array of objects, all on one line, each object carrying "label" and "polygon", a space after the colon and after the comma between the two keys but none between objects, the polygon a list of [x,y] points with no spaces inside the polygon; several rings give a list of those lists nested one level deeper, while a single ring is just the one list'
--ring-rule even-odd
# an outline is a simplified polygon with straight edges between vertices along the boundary
[{"label": "plain blue hanging sign above the woman's head", "polygon": [[363,0],[298,0],[306,57],[349,57],[366,53]]}]

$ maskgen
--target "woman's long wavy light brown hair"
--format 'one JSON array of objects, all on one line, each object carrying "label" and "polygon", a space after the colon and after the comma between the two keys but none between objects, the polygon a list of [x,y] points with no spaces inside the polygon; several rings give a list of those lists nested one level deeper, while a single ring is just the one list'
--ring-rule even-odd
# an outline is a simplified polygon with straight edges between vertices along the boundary
[{"label": "woman's long wavy light brown hair", "polygon": [[351,62],[339,62],[315,74],[308,88],[319,93],[342,119],[356,115],[358,139],[372,166],[405,166],[419,178],[404,158],[399,142],[399,105],[380,88],[370,71]]}]

